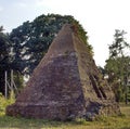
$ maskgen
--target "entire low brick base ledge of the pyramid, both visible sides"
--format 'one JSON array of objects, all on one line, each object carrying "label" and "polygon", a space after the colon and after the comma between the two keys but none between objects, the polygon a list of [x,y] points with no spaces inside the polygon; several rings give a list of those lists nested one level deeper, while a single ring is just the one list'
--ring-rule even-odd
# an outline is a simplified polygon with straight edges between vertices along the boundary
[{"label": "entire low brick base ledge of the pyramid, both visible sides", "polygon": [[12,104],[6,107],[6,115],[9,116],[22,116],[26,118],[40,118],[48,120],[74,120],[76,118],[94,120],[99,116],[112,116],[119,114],[120,109],[116,102],[89,102],[86,108],[76,108],[72,105],[49,107],[43,105],[17,104]]}]

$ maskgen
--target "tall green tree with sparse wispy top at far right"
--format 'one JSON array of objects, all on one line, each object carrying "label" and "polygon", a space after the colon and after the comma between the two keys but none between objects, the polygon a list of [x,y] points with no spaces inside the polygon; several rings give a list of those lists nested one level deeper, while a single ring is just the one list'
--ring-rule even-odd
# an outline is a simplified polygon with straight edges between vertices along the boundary
[{"label": "tall green tree with sparse wispy top at far right", "polygon": [[115,30],[114,42],[109,46],[109,59],[106,61],[105,69],[109,76],[108,81],[113,85],[117,101],[121,101],[126,94],[127,103],[127,78],[130,57],[125,50],[130,46],[125,39],[125,30]]}]

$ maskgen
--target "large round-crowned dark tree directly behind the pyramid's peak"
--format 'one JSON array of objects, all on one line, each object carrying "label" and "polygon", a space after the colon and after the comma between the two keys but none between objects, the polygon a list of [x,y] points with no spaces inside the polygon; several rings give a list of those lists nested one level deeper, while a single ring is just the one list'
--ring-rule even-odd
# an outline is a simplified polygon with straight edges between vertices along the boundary
[{"label": "large round-crowned dark tree directly behind the pyramid's peak", "polygon": [[10,40],[13,42],[13,65],[17,70],[30,75],[65,23],[72,23],[77,26],[79,36],[92,54],[92,47],[87,41],[87,33],[73,16],[40,15],[32,22],[23,23],[10,34]]}]

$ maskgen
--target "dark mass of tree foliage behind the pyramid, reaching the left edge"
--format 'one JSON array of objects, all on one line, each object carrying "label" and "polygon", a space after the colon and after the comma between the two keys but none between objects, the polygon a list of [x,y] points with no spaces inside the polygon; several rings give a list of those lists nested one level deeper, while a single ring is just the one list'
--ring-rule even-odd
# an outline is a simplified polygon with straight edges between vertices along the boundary
[{"label": "dark mass of tree foliage behind the pyramid, reaching the left edge", "polygon": [[0,27],[0,92],[4,93],[5,70],[10,75],[11,69],[13,69],[16,86],[23,85],[23,75],[32,73],[65,23],[73,24],[77,28],[78,36],[92,54],[87,33],[79,22],[70,15],[40,15],[32,22],[23,23],[11,34],[3,34],[3,27]]}]

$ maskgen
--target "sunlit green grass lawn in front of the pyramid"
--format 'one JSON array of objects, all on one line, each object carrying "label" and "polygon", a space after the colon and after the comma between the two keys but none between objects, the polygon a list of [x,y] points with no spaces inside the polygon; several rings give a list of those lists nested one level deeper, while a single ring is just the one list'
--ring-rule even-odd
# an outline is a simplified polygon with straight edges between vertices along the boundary
[{"label": "sunlit green grass lawn in front of the pyramid", "polygon": [[0,129],[130,129],[130,105],[121,105],[122,116],[102,117],[96,121],[49,121],[5,116],[0,112]]}]

